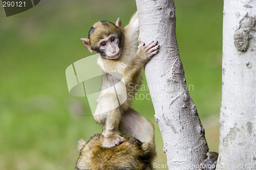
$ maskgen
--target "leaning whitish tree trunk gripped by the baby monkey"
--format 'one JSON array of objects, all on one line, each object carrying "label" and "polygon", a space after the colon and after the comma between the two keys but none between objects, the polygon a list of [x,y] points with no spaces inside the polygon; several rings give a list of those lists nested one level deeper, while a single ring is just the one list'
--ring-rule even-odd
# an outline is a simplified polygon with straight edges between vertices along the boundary
[{"label": "leaning whitish tree trunk gripped by the baby monkey", "polygon": [[204,128],[184,77],[176,40],[173,0],[136,0],[139,41],[159,41],[160,51],[147,63],[145,75],[169,169],[198,169],[208,151]]}]

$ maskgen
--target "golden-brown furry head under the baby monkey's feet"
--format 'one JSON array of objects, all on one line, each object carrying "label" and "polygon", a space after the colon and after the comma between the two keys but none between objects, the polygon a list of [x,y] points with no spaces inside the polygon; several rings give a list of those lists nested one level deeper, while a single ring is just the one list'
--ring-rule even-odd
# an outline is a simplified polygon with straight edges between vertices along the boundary
[{"label": "golden-brown furry head under the baby monkey's feet", "polygon": [[115,148],[103,148],[103,136],[96,134],[79,151],[80,156],[76,169],[125,169],[150,170],[156,156],[151,143],[142,143],[139,140],[122,135],[124,140]]}]

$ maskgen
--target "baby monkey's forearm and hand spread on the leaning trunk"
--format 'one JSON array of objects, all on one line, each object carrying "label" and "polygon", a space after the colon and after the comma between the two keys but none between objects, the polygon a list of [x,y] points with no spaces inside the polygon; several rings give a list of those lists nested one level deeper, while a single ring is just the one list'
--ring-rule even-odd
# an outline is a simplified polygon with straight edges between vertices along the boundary
[{"label": "baby monkey's forearm and hand spread on the leaning trunk", "polygon": [[150,42],[145,45],[141,43],[136,54],[132,57],[130,63],[123,70],[124,83],[135,83],[137,78],[140,76],[142,67],[146,64],[150,58],[157,54],[159,51],[159,45],[157,42]]}]

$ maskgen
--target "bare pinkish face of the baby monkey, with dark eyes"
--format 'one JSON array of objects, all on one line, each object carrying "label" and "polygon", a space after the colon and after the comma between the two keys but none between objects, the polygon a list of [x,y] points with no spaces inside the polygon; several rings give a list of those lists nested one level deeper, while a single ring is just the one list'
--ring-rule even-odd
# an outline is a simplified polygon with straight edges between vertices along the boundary
[{"label": "bare pinkish face of the baby monkey, with dark eyes", "polygon": [[115,60],[120,56],[119,39],[115,35],[110,35],[99,42],[100,51],[103,51],[106,58]]}]

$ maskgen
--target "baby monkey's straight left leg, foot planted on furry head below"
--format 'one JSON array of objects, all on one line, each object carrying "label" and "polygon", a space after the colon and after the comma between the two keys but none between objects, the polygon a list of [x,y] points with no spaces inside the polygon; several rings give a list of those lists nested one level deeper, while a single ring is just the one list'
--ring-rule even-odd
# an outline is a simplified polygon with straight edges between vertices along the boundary
[{"label": "baby monkey's straight left leg, foot planted on furry head below", "polygon": [[[114,99],[116,94],[104,94],[97,100],[97,108],[94,114],[94,120],[102,125],[103,143],[102,147],[112,148],[119,145],[124,140],[118,134],[118,125],[121,118],[121,108],[116,106]],[[104,112],[105,111],[105,112]]]}]

